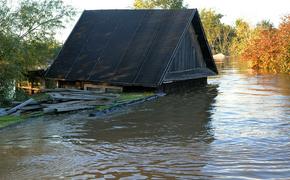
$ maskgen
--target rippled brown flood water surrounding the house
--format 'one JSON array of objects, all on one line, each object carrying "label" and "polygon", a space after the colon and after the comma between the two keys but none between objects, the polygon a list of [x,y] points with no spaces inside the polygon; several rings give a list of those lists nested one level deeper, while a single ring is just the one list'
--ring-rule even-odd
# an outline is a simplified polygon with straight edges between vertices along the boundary
[{"label": "rippled brown flood water surrounding the house", "polygon": [[207,87],[107,117],[0,130],[0,179],[290,179],[290,76],[219,69]]}]

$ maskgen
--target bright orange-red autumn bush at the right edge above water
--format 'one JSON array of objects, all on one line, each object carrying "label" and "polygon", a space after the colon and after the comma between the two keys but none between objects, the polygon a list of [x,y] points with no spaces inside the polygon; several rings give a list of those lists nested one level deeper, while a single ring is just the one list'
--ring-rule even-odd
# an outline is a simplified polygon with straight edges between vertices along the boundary
[{"label": "bright orange-red autumn bush at the right edge above water", "polygon": [[290,15],[278,29],[257,28],[241,56],[251,60],[253,69],[290,73]]}]

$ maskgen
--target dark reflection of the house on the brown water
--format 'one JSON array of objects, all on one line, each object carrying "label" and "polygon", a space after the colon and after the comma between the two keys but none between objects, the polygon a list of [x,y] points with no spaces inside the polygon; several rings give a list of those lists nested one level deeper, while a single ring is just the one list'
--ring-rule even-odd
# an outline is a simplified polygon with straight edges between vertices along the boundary
[{"label": "dark reflection of the house on the brown water", "polygon": [[87,121],[83,127],[87,130],[85,136],[107,142],[128,139],[178,142],[179,138],[211,142],[211,110],[216,96],[217,85],[171,94],[134,107],[123,115]]}]

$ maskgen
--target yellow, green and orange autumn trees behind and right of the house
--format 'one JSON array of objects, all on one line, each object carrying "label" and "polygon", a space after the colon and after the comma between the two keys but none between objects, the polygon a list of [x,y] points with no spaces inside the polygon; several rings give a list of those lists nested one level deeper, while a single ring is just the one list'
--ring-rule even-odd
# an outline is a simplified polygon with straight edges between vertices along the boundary
[{"label": "yellow, green and orange autumn trees behind and right of the house", "polygon": [[[183,0],[135,0],[136,9],[183,9]],[[251,27],[243,19],[234,26],[222,23],[222,14],[212,9],[200,10],[200,17],[213,53],[236,56],[250,62],[255,70],[290,73],[290,14],[274,28],[268,20]]]}]

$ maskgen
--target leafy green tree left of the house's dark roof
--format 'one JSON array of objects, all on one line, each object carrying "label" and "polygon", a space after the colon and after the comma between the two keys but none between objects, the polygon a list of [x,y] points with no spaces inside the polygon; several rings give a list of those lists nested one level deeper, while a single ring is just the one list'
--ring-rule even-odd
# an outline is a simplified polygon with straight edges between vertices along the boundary
[{"label": "leafy green tree left of the house's dark roof", "polygon": [[28,70],[53,58],[56,31],[75,15],[62,0],[9,2],[0,0],[0,101]]}]

